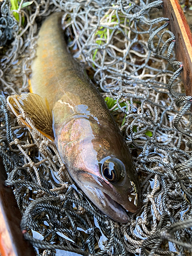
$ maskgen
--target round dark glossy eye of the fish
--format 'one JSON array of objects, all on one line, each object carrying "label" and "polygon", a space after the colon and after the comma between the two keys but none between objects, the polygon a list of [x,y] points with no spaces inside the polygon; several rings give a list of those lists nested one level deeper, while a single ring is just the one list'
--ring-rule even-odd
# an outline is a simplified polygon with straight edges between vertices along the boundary
[{"label": "round dark glossy eye of the fish", "polygon": [[104,158],[101,161],[101,172],[105,179],[110,182],[121,181],[125,177],[125,166],[121,160],[117,158]]}]

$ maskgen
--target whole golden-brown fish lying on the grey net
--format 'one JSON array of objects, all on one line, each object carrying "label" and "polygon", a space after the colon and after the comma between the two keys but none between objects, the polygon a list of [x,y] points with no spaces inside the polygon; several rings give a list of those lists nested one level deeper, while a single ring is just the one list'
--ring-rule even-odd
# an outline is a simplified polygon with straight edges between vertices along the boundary
[{"label": "whole golden-brown fish lying on the grey net", "polygon": [[[42,24],[31,64],[30,93],[15,97],[36,129],[54,141],[84,194],[103,214],[126,223],[128,212],[141,208],[136,168],[103,97],[67,48],[62,15],[53,13]],[[14,97],[7,102],[18,116]],[[24,119],[23,123],[30,126]]]}]

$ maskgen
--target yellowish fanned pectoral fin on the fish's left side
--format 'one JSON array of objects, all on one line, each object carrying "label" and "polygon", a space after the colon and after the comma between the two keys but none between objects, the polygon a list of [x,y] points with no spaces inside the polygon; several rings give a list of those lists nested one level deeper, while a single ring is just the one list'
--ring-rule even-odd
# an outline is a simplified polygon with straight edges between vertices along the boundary
[{"label": "yellowish fanned pectoral fin on the fish's left side", "polygon": [[[15,103],[14,97],[22,105],[23,110],[33,120],[36,129],[47,138],[54,140],[52,127],[53,118],[48,100],[46,98],[43,99],[39,95],[33,93],[9,96],[7,98],[7,103],[16,116],[20,115],[21,112]],[[22,122],[31,128],[31,126],[23,118]]]}]

